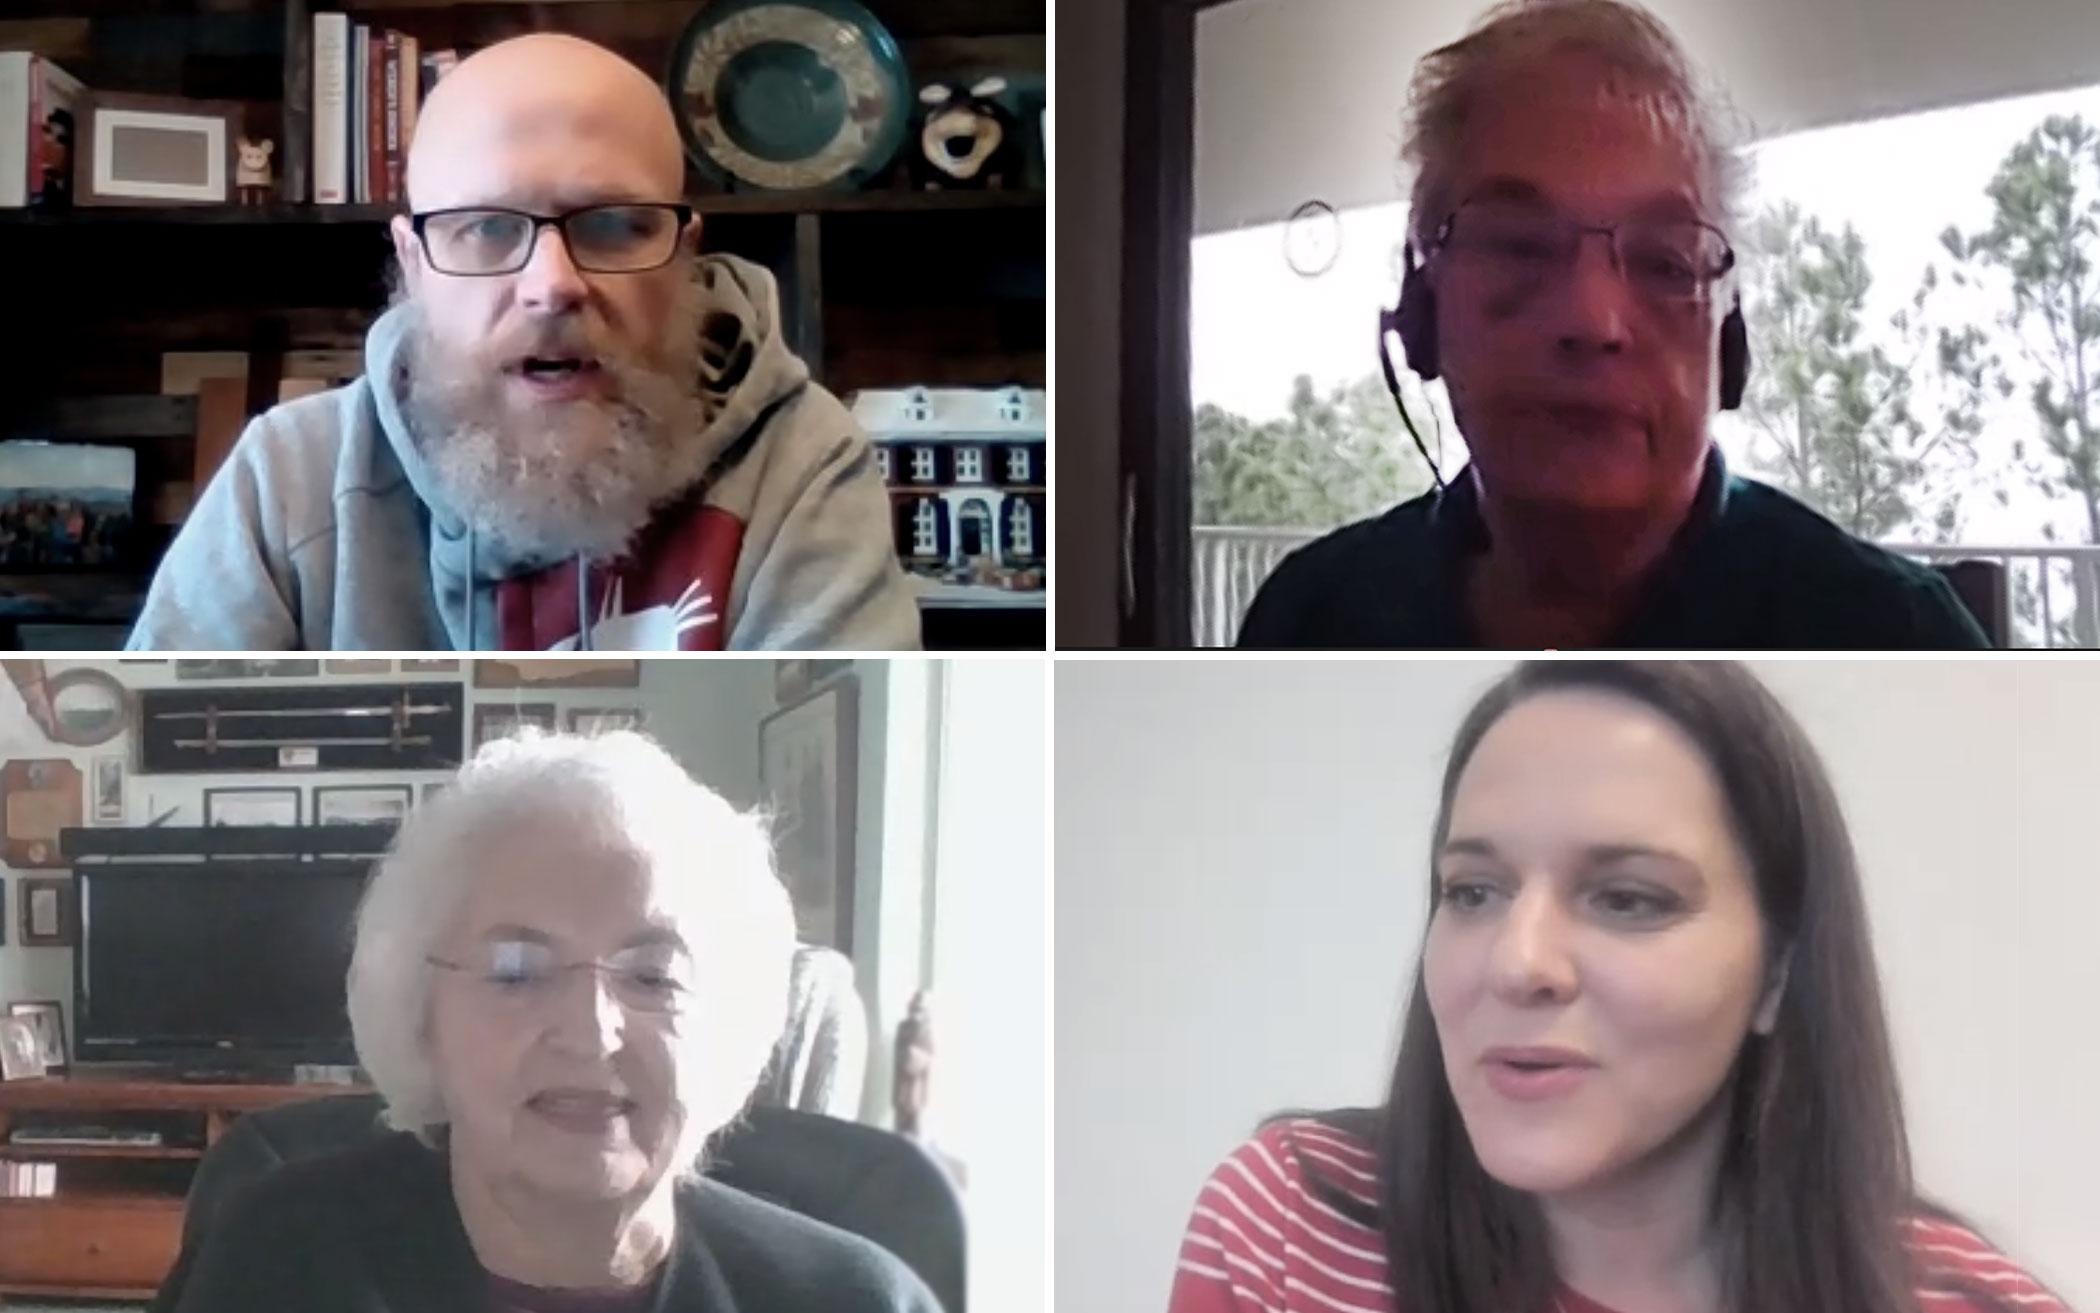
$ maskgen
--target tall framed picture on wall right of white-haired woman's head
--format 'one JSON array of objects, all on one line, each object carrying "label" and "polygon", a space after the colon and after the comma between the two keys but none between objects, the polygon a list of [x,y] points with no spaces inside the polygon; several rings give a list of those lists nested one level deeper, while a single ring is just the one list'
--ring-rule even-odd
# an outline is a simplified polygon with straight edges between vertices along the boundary
[{"label": "tall framed picture on wall right of white-haired woman's head", "polygon": [[859,683],[834,679],[758,723],[758,784],[804,943],[853,952]]}]

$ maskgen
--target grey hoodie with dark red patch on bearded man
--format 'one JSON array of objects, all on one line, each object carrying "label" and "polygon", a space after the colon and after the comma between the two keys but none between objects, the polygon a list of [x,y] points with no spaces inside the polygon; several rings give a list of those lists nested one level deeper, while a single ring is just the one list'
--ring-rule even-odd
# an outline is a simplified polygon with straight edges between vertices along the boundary
[{"label": "grey hoodie with dark red patch on bearded man", "polygon": [[628,563],[504,561],[468,532],[401,414],[393,309],[365,336],[363,378],[248,424],[153,576],[130,647],[918,647],[867,435],[783,345],[771,273],[720,254],[701,271],[716,414],[695,441],[710,477]]}]

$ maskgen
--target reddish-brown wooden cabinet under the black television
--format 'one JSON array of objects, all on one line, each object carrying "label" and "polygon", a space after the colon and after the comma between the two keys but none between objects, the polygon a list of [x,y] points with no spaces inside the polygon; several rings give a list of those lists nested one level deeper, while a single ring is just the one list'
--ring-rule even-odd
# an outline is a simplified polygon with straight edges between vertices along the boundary
[{"label": "reddish-brown wooden cabinet under the black television", "polygon": [[[246,1111],[344,1084],[193,1084],[76,1074],[0,1082],[0,1160],[59,1164],[59,1193],[0,1200],[0,1296],[153,1298],[183,1246],[204,1151]],[[17,1145],[27,1124],[151,1126],[162,1145]],[[4,1300],[0,1300],[4,1302]]]}]

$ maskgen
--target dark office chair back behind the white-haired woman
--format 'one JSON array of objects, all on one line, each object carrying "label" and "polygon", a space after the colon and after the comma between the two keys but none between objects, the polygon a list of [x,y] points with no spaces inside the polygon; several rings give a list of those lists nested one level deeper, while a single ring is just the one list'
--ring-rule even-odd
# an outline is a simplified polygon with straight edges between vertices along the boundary
[{"label": "dark office chair back behind the white-haired woman", "polygon": [[[183,1254],[151,1313],[174,1309],[204,1235],[277,1166],[386,1134],[376,1095],[286,1103],[237,1120],[197,1164],[183,1210]],[[754,1107],[712,1149],[708,1176],[872,1239],[903,1258],[947,1313],[964,1313],[962,1197],[911,1141],[819,1113]]]}]

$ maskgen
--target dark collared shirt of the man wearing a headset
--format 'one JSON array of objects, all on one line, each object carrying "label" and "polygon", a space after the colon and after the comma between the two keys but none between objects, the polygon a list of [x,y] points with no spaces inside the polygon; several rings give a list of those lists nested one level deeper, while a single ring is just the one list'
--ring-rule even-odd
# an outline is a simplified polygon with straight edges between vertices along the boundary
[{"label": "dark collared shirt of the man wearing a headset", "polygon": [[[1241,647],[1480,647],[1464,561],[1487,548],[1480,496],[1443,494],[1310,542],[1277,567]],[[1989,647],[1936,571],[1863,542],[1712,447],[1693,513],[1634,616],[1602,647]]]}]

